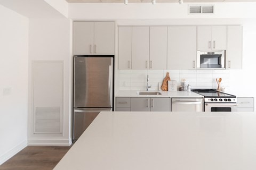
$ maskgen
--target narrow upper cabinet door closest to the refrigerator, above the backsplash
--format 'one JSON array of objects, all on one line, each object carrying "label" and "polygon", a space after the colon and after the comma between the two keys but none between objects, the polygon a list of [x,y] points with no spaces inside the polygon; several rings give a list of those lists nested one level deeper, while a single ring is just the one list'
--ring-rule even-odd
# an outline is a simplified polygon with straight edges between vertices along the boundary
[{"label": "narrow upper cabinet door closest to the refrigerator, above the backsplash", "polygon": [[119,27],[118,69],[130,70],[132,62],[132,27]]}]

